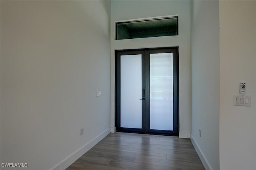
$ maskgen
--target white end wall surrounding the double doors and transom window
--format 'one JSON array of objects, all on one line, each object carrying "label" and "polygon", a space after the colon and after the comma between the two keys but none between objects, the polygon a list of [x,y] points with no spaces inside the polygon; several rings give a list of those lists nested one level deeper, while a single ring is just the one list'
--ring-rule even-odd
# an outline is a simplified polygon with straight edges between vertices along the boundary
[{"label": "white end wall surrounding the double doors and transom window", "polygon": [[[115,22],[157,16],[179,16],[179,35],[115,40]],[[190,138],[191,129],[191,60],[190,60],[190,2],[189,1],[111,1],[111,94],[110,127],[115,126],[115,51],[148,47],[179,46],[180,69],[180,137]]]}]

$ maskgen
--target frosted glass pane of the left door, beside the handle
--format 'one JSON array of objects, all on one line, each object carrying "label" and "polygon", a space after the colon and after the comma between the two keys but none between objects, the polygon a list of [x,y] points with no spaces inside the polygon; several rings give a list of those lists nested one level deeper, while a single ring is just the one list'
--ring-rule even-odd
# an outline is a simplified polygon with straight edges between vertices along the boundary
[{"label": "frosted glass pane of the left door, beside the handle", "polygon": [[142,128],[142,55],[121,55],[121,127]]}]

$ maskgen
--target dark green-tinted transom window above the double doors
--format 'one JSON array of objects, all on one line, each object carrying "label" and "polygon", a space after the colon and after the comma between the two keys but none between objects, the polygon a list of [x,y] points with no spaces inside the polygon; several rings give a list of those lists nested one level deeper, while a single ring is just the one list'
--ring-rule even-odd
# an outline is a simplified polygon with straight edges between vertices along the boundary
[{"label": "dark green-tinted transom window above the double doors", "polygon": [[178,35],[178,16],[116,23],[116,40]]}]

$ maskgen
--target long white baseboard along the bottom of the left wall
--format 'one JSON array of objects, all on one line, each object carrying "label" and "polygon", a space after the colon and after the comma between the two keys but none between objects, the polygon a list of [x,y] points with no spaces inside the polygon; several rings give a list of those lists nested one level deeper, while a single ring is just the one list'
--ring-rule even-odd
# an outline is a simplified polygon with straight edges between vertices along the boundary
[{"label": "long white baseboard along the bottom of the left wall", "polygon": [[90,142],[86,143],[84,146],[76,150],[76,152],[72,153],[58,165],[54,166],[51,170],[65,170],[74,163],[78,158],[80,158],[83,154],[85,154],[90,148],[96,145],[100,140],[106,137],[110,133],[110,128],[106,129],[104,132],[96,136],[96,138],[92,139]]}]

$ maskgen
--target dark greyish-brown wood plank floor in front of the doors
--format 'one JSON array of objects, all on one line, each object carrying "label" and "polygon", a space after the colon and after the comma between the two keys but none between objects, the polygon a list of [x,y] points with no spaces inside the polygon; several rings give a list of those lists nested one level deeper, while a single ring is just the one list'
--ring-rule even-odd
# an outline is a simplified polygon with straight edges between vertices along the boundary
[{"label": "dark greyish-brown wood plank floor in front of the doors", "polygon": [[110,133],[67,170],[204,170],[190,139]]}]

